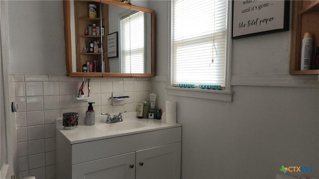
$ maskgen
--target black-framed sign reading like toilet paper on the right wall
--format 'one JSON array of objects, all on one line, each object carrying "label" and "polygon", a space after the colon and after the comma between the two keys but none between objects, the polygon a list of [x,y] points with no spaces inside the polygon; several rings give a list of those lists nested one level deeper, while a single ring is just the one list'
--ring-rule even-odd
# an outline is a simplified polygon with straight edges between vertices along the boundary
[{"label": "black-framed sign reading like toilet paper on the right wall", "polygon": [[232,39],[289,30],[290,0],[232,1]]}]

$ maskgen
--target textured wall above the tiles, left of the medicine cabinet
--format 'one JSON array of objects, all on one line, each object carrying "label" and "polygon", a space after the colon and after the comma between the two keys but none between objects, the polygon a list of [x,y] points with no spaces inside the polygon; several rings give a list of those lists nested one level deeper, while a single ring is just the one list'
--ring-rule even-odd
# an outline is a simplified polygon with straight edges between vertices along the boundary
[{"label": "textured wall above the tiles, left of the medicine cabinet", "polygon": [[11,74],[66,74],[62,1],[8,1],[8,29]]}]

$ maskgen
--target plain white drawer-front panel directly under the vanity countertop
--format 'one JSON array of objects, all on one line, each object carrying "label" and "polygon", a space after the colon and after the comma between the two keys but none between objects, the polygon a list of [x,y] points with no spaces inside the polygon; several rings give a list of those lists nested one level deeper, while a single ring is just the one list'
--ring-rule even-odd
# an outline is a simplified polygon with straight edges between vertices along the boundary
[{"label": "plain white drawer-front panel directly under the vanity countertop", "polygon": [[72,165],[181,141],[181,127],[72,145]]}]

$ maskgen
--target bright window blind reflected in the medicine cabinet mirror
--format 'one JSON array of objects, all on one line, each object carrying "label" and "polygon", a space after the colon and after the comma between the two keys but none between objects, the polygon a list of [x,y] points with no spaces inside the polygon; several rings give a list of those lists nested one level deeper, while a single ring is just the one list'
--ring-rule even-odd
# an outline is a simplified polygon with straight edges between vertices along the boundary
[{"label": "bright window blind reflected in the medicine cabinet mirror", "polygon": [[144,73],[144,12],[121,19],[123,73]]}]

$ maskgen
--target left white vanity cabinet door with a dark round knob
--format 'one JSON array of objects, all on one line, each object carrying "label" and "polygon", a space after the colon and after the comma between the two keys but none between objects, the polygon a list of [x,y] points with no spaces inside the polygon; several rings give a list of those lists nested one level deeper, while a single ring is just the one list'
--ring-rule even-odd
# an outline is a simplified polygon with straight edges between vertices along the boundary
[{"label": "left white vanity cabinet door with a dark round knob", "polygon": [[135,179],[135,152],[73,165],[72,179]]}]

